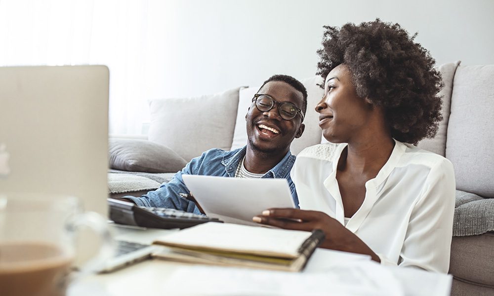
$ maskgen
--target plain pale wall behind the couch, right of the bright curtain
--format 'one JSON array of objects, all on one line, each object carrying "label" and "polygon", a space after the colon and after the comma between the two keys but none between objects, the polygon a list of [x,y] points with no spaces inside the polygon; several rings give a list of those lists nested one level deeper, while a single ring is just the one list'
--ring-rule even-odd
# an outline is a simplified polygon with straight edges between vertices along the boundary
[{"label": "plain pale wall behind the couch, right of the bright curtain", "polygon": [[[172,1],[167,67],[160,96],[214,93],[257,85],[271,74],[316,72],[323,25],[376,17],[397,22],[438,64],[494,64],[494,1],[177,0]],[[171,7],[170,7],[171,8]]]}]

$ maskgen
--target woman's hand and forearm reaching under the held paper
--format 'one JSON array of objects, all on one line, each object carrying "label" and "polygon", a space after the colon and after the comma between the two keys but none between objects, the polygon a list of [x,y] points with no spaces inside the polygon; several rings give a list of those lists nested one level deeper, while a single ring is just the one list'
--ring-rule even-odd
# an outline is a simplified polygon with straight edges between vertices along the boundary
[{"label": "woman's hand and forearm reaching under the held paper", "polygon": [[380,262],[379,257],[358,236],[323,212],[268,209],[261,215],[253,217],[252,221],[291,230],[321,229],[326,236],[320,245],[321,248],[367,254],[373,260]]}]

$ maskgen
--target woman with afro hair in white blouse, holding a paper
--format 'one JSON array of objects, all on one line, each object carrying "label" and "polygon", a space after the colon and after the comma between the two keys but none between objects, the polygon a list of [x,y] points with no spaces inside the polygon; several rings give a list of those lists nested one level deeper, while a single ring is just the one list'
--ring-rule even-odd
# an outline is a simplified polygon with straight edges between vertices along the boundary
[{"label": "woman with afro hair in white blouse, holding a paper", "polygon": [[301,210],[269,209],[253,221],[322,229],[320,247],[448,272],[453,166],[413,146],[442,119],[434,59],[398,24],[325,28],[316,111],[331,143],[297,156],[291,178]]}]

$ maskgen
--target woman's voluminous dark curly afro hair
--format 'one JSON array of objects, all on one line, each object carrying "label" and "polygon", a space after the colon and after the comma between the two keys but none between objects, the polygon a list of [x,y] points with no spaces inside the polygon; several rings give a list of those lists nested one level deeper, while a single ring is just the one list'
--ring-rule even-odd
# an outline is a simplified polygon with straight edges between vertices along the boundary
[{"label": "woman's voluminous dark curly afro hair", "polygon": [[357,95],[383,108],[396,140],[416,145],[436,135],[443,82],[430,53],[413,41],[416,34],[410,37],[399,24],[379,19],[324,28],[317,74],[326,79],[333,68],[346,65]]}]

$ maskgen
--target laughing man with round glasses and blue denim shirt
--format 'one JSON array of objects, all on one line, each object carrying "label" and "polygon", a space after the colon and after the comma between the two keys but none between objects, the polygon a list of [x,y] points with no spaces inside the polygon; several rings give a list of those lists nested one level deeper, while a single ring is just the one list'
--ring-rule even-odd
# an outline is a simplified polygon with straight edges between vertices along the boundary
[{"label": "laughing man with round glasses and blue denim shirt", "polygon": [[266,80],[252,98],[247,115],[248,143],[244,148],[224,151],[213,148],[192,159],[173,179],[141,197],[124,196],[139,206],[173,208],[200,214],[196,204],[181,196],[189,190],[183,174],[239,178],[286,178],[298,207],[290,170],[295,156],[290,144],[302,136],[307,109],[307,91],[302,83],[288,75]]}]

